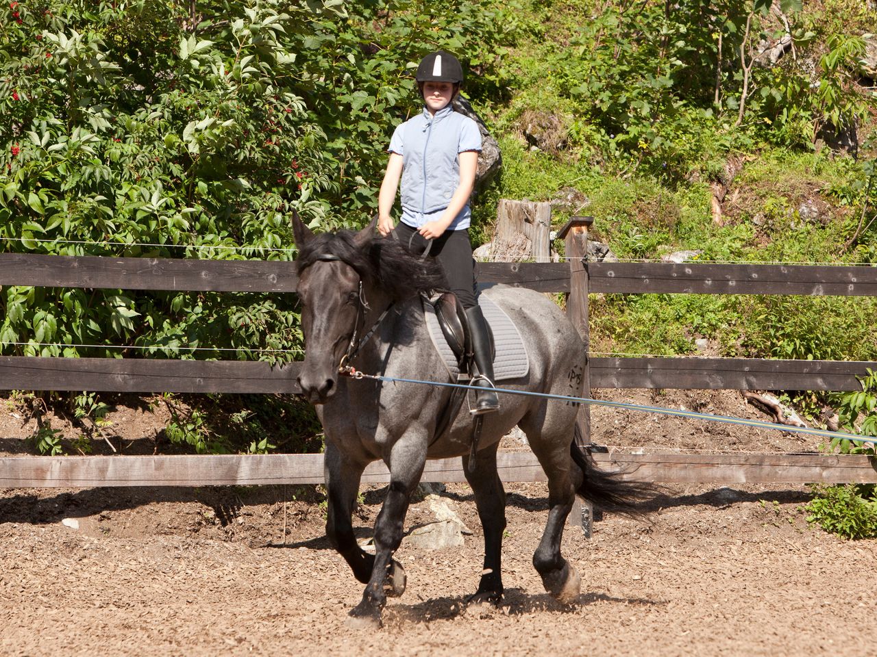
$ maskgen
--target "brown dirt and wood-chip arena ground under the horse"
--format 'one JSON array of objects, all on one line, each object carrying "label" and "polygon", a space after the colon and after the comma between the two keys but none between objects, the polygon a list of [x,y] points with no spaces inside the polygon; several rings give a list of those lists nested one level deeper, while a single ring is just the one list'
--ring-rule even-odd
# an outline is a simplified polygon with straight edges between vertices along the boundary
[{"label": "brown dirt and wood-chip arena ground under the horse", "polygon": [[[764,417],[733,393],[627,399]],[[0,418],[0,455],[23,451],[25,420]],[[131,445],[160,426],[130,408],[111,420]],[[595,442],[624,448],[809,451],[818,443],[601,409],[594,421]],[[481,571],[481,527],[467,486],[449,484],[441,497],[474,535],[441,550],[403,541],[408,590],[389,600],[376,632],[345,625],[362,589],[324,538],[322,495],[312,486],[0,491],[0,654],[877,653],[877,540],[809,526],[806,487],[671,488],[650,524],[605,512],[592,539],[575,530],[564,537],[582,576],[569,605],[545,594],[531,566],[545,485],[507,488],[503,605],[466,608]],[[381,499],[380,488],[364,491],[354,523],[362,539]],[[417,501],[407,526],[429,515]]]}]

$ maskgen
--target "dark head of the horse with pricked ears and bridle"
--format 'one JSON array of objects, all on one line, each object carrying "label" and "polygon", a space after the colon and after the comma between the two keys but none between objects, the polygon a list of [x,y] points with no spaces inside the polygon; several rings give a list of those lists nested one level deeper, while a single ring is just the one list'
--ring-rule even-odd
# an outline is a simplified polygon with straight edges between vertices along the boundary
[{"label": "dark head of the horse with pricked ears and bridle", "polygon": [[314,235],[297,214],[292,218],[299,258],[298,298],[307,346],[298,376],[305,397],[323,404],[335,393],[342,357],[362,313],[362,279],[374,225],[357,233]]}]

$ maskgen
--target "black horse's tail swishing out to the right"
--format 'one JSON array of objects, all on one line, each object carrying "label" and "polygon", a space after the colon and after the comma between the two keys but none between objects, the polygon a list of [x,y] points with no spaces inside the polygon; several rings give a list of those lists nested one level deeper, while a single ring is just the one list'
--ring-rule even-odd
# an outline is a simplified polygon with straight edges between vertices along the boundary
[{"label": "black horse's tail swishing out to the right", "polygon": [[579,447],[581,428],[575,426],[575,439],[569,446],[573,461],[581,468],[584,475],[581,486],[576,491],[582,498],[597,505],[610,505],[614,510],[626,516],[645,519],[648,512],[644,506],[652,502],[660,494],[654,484],[637,481],[624,481],[618,472],[599,470],[590,453]]}]

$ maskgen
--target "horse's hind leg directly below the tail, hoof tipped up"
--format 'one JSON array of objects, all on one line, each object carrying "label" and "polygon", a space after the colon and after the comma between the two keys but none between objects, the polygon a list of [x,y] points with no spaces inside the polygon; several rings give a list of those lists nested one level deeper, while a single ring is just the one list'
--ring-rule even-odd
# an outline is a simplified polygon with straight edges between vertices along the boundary
[{"label": "horse's hind leg directly below the tail, hoof tipped up", "polygon": [[[571,425],[567,426],[567,422],[555,424],[551,420],[559,418],[551,418],[550,406],[548,409],[545,406],[535,418],[521,423],[531,449],[548,477],[548,522],[533,555],[533,566],[542,576],[545,590],[560,602],[570,603],[579,595],[581,578],[578,570],[560,555],[560,542],[564,523],[573,508],[576,487],[581,484],[581,471],[569,455]],[[549,417],[545,417],[546,414]],[[554,436],[558,436],[556,440]]]}]

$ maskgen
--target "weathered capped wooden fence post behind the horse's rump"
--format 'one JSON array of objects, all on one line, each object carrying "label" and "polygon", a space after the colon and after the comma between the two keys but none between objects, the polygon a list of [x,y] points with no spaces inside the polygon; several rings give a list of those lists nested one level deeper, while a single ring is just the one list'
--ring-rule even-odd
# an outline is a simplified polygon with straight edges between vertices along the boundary
[{"label": "weathered capped wooden fence post behind the horse's rump", "polygon": [[[588,328],[588,229],[594,223],[593,216],[574,216],[557,234],[564,240],[569,262],[569,295],[567,296],[567,316],[573,326],[578,329],[581,342],[585,345],[585,362],[581,364],[582,391],[585,397],[591,394],[590,370],[590,329]],[[591,443],[591,407],[582,404],[576,424],[580,433],[576,435],[579,447]],[[576,498],[578,499],[578,498]],[[579,525],[585,537],[591,537],[591,524],[594,519],[594,505],[590,502],[580,505],[578,502],[570,513],[570,522]]]}]

